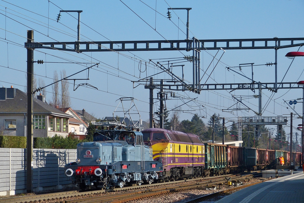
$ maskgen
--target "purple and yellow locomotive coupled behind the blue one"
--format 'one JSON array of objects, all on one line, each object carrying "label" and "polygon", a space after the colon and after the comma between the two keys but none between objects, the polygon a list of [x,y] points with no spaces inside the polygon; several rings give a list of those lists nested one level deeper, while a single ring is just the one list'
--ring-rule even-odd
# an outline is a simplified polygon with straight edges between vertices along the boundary
[{"label": "purple and yellow locomotive coupled behind the blue one", "polygon": [[160,128],[150,128],[142,133],[143,142],[152,146],[153,159],[163,163],[160,179],[171,181],[203,175],[205,146],[199,136]]}]

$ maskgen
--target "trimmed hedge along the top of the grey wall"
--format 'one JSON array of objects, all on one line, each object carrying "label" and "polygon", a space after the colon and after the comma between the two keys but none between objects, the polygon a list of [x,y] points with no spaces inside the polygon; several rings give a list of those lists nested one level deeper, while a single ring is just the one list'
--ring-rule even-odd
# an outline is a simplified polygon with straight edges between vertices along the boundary
[{"label": "trimmed hedge along the top of the grey wall", "polygon": [[[85,142],[72,137],[34,137],[33,148],[40,149],[76,149],[77,144]],[[0,136],[1,148],[26,148],[26,137],[20,136]]]}]

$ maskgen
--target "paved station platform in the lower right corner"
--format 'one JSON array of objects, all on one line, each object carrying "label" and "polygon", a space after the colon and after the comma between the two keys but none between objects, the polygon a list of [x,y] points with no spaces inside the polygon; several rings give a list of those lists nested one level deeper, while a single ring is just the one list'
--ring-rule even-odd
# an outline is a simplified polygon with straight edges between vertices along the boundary
[{"label": "paved station platform in the lower right corner", "polygon": [[279,177],[234,192],[216,203],[300,203],[304,202],[303,172]]}]

